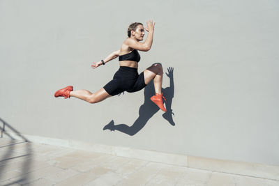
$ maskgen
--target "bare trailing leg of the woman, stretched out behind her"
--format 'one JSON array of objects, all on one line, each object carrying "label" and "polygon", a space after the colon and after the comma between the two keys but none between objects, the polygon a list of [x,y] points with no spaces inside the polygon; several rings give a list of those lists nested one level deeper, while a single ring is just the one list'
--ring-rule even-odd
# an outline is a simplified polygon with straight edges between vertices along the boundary
[{"label": "bare trailing leg of the woman, stretched out behind her", "polygon": [[112,95],[107,93],[104,88],[100,88],[99,91],[96,93],[91,93],[87,90],[77,90],[77,91],[71,91],[70,96],[79,98],[81,100],[84,100],[86,102],[90,103],[96,103],[105,100],[106,98],[110,98]]}]

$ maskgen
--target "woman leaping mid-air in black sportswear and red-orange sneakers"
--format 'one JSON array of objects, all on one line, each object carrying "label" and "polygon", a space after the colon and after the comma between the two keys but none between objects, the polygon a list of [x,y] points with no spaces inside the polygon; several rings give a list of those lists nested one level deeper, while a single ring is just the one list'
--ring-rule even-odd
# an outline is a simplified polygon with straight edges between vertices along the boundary
[{"label": "woman leaping mid-air in black sportswear and red-orange sneakers", "polygon": [[[160,107],[163,111],[166,111],[163,104],[163,93],[161,92],[163,81],[163,68],[160,64],[151,65],[144,72],[137,72],[138,63],[140,61],[140,54],[137,50],[147,52],[151,49],[153,42],[153,32],[155,22],[152,20],[146,22],[148,31],[147,38],[144,42],[140,42],[144,39],[144,26],[140,22],[130,24],[128,27],[128,38],[124,40],[121,45],[121,49],[112,52],[107,58],[99,62],[94,62],[91,65],[92,68],[97,68],[100,65],[115,59],[119,56],[119,70],[115,73],[112,81],[106,84],[96,93],[91,93],[87,90],[73,91],[73,86],[67,86],[65,88],[56,91],[55,97],[63,96],[64,98],[80,98],[86,102],[96,103],[105,100],[113,95],[127,91],[133,93],[142,90],[153,79],[155,95],[151,97],[151,100]],[[165,99],[165,98],[164,98]]]}]

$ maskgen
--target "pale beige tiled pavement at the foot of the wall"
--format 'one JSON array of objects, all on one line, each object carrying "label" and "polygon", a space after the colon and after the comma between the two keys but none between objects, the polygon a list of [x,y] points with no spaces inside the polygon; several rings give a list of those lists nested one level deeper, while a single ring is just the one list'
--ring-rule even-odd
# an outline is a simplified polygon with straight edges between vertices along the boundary
[{"label": "pale beige tiled pavement at the foot of the wall", "polygon": [[0,185],[279,186],[279,181],[0,138]]}]

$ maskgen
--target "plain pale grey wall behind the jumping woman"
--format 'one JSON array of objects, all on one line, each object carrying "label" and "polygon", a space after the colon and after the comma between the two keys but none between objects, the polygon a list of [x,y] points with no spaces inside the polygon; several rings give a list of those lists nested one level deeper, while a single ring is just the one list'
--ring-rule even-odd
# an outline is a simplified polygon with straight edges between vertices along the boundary
[{"label": "plain pale grey wall behind the jumping woman", "polygon": [[[0,117],[23,134],[278,165],[278,8],[270,0],[2,0]],[[149,18],[153,47],[140,52],[139,72],[157,62],[174,68],[174,126],[157,111],[133,136],[103,130],[111,120],[132,125],[144,90],[98,104],[54,98],[63,86],[107,84],[118,60],[91,63],[119,49],[131,22]]]}]

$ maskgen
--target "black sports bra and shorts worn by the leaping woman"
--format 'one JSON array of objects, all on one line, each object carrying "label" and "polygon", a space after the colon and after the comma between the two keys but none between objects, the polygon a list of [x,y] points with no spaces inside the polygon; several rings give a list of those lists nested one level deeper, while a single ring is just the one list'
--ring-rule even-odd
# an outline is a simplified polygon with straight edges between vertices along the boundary
[{"label": "black sports bra and shorts worn by the leaping woman", "polygon": [[[140,61],[140,54],[134,49],[128,54],[119,56],[119,61]],[[104,88],[110,95],[117,95],[123,91],[129,93],[142,90],[146,84],[144,83],[144,72],[137,72],[137,68],[120,66],[119,70],[114,74],[112,81],[107,83]]]}]

